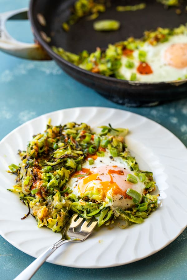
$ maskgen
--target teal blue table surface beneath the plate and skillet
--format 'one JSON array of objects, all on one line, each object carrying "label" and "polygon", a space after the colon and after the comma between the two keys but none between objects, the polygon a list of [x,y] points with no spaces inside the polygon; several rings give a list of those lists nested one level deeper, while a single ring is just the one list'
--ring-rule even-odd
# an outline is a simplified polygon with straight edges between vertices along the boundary
[{"label": "teal blue table surface beneath the plate and skillet", "polygon": [[[0,12],[23,7],[28,7],[28,0],[0,0]],[[17,40],[33,41],[28,21],[9,21],[7,29]],[[0,52],[0,140],[41,114],[78,106],[111,107],[146,116],[168,128],[187,146],[187,99],[149,108],[117,105],[73,80],[54,61],[29,61]],[[0,237],[0,279],[15,278],[33,260]],[[187,279],[187,229],[161,251],[132,264],[82,269],[46,262],[33,277],[54,278]]]}]

